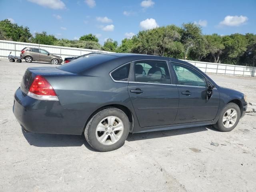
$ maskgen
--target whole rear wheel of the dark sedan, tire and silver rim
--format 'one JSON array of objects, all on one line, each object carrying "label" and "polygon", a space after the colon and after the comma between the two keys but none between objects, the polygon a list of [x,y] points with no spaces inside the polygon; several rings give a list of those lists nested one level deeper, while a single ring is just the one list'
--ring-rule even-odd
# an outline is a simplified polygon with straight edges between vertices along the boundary
[{"label": "whole rear wheel of the dark sedan, tire and silver rim", "polygon": [[106,152],[123,146],[131,123],[118,108],[106,108],[96,113],[86,125],[84,135],[92,148]]}]

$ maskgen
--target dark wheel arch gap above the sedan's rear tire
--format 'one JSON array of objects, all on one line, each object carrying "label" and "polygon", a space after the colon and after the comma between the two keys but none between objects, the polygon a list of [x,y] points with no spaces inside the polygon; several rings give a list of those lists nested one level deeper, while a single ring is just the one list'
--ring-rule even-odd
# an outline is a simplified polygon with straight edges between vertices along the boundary
[{"label": "dark wheel arch gap above the sedan's rear tire", "polygon": [[[90,121],[90,119],[91,119],[96,113],[100,112],[100,111],[103,110],[103,109],[110,108],[110,107],[118,108],[118,109],[122,110],[122,111],[127,115],[129,121],[132,123],[132,126],[131,126],[129,132],[132,132],[132,130],[134,129],[134,115],[132,114],[131,110],[130,110],[128,107],[126,107],[126,106],[124,106],[124,105],[121,105],[121,104],[108,104],[108,105],[102,106],[102,107],[98,108],[97,110],[95,110],[95,111],[90,115],[90,117],[87,119],[86,124],[85,124],[85,126],[84,126],[84,130],[85,130],[85,128],[86,128],[86,125],[87,125],[88,122]],[[84,132],[84,130],[83,130],[83,132]]]}]

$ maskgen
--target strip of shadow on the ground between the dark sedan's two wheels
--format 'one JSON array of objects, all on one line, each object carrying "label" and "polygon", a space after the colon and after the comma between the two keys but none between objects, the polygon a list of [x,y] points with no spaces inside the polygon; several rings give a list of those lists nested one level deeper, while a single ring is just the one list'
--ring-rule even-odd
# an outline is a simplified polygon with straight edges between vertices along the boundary
[{"label": "strip of shadow on the ground between the dark sedan's two wheels", "polygon": [[130,142],[130,141],[161,138],[161,137],[171,137],[176,135],[184,135],[184,134],[196,133],[201,131],[207,131],[209,129],[218,131],[214,129],[211,125],[207,125],[207,126],[200,126],[200,127],[180,128],[180,129],[172,129],[172,130],[164,130],[164,131],[129,134],[126,140]]}]

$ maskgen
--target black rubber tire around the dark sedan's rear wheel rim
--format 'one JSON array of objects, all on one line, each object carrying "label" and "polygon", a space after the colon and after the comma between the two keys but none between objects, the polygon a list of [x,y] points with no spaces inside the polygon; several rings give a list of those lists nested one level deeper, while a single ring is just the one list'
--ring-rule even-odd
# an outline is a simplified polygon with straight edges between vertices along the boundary
[{"label": "black rubber tire around the dark sedan's rear wheel rim", "polygon": [[[98,141],[98,139],[96,138],[96,128],[97,128],[98,124],[100,123],[100,121],[108,116],[118,117],[123,123],[124,131],[123,131],[122,136],[120,137],[120,139],[117,142],[115,142],[114,144],[111,144],[111,145],[104,145],[104,144],[101,144]],[[130,130],[131,126],[132,126],[132,123],[129,121],[128,117],[122,110],[120,110],[118,108],[105,108],[105,109],[101,110],[100,112],[96,113],[89,120],[89,122],[87,123],[86,128],[84,130],[84,136],[85,136],[88,144],[90,144],[90,146],[92,146],[92,148],[94,148],[95,150],[100,151],[100,152],[112,151],[112,150],[116,150],[124,145],[124,142],[125,142],[126,138],[128,137],[129,130]]]}]

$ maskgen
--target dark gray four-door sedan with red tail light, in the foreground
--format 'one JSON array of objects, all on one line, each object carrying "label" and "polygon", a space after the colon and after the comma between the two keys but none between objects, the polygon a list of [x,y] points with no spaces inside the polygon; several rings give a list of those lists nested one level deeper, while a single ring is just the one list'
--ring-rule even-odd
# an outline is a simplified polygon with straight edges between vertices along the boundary
[{"label": "dark gray four-door sedan with red tail light, in the foreground", "polygon": [[231,131],[246,108],[243,93],[218,86],[187,62],[112,53],[28,68],[13,111],[25,131],[84,133],[94,149],[110,151],[129,132],[208,124]]}]

